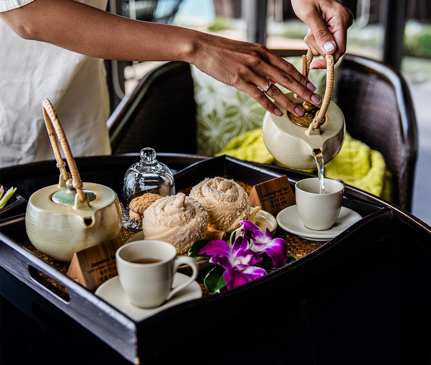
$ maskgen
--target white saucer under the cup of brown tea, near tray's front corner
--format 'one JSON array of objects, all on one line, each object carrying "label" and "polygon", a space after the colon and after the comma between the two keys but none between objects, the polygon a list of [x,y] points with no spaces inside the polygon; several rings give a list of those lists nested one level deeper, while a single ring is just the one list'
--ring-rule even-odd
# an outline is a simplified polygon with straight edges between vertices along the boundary
[{"label": "white saucer under the cup of brown tea, near tray's front corner", "polygon": [[[175,273],[173,287],[187,281],[190,277],[181,274],[179,272]],[[97,288],[97,296],[106,300],[109,304],[116,307],[118,310],[128,315],[134,321],[142,321],[143,319],[150,317],[157,312],[161,312],[166,308],[176,306],[177,304],[187,302],[192,299],[198,299],[202,296],[202,289],[197,281],[193,281],[187,287],[181,289],[178,293],[172,296],[168,302],[162,304],[156,308],[139,308],[134,306],[128,296],[126,296],[121,284],[120,278],[115,276],[108,281],[105,281],[100,287]]]}]

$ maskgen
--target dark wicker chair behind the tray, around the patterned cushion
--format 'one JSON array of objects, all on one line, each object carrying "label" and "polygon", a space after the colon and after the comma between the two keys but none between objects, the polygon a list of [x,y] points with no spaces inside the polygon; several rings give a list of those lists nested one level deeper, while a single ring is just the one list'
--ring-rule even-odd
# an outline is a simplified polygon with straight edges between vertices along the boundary
[{"label": "dark wicker chair behind the tray, around the patterned cushion", "polygon": [[[299,56],[303,50],[274,50]],[[393,177],[393,203],[407,211],[412,200],[417,128],[406,82],[381,62],[345,55],[335,95],[346,128],[384,156]],[[111,117],[113,153],[152,146],[163,152],[196,151],[196,117],[190,67],[168,62],[140,81]],[[162,127],[161,127],[162,123]],[[168,133],[161,137],[162,132]]]}]

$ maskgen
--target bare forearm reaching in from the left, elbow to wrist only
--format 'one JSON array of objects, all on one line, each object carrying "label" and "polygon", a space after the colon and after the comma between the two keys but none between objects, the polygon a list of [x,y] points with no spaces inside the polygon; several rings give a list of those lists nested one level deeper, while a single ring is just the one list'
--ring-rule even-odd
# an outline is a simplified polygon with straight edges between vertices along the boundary
[{"label": "bare forearm reaching in from the left, elbow to wrist only", "polygon": [[193,62],[200,35],[72,0],[35,0],[0,13],[0,18],[22,37],[103,59]]}]

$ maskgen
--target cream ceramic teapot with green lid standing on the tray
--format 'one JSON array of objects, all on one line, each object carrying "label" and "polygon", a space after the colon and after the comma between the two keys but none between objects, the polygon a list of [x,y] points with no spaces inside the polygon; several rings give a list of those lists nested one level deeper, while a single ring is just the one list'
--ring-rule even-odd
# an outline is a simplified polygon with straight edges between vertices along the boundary
[{"label": "cream ceramic teapot with green lid standing on the tray", "polygon": [[[58,185],[44,187],[31,195],[25,228],[31,243],[39,251],[53,259],[69,262],[76,251],[119,236],[121,207],[117,194],[109,187],[81,181],[53,106],[47,99],[42,105],[60,177]],[[71,174],[66,171],[56,135]]]}]

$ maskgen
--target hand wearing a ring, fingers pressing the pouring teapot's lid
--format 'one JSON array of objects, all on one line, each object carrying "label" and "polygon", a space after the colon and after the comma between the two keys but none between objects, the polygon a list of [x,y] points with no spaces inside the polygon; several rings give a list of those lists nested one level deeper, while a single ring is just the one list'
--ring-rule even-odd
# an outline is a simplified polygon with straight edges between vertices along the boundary
[{"label": "hand wearing a ring, fingers pressing the pouring teapot's lid", "polygon": [[[216,80],[244,91],[275,115],[281,115],[281,110],[266,95],[297,116],[304,113],[275,86],[276,83],[314,105],[321,102],[313,94],[316,88],[308,78],[261,44],[233,41],[205,33],[199,33],[196,44],[191,63]],[[269,81],[272,85],[265,95],[261,89],[265,89]]]}]

